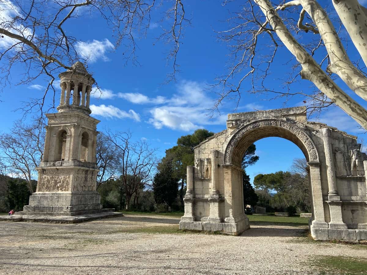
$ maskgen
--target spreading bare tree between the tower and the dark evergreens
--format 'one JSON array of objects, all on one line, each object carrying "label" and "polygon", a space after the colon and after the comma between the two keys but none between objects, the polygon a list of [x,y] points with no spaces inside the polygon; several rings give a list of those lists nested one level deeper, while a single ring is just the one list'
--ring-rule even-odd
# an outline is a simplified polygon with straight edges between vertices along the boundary
[{"label": "spreading bare tree between the tower and the dark evergreens", "polygon": [[115,145],[121,183],[126,194],[126,210],[130,207],[132,195],[150,186],[153,172],[158,164],[156,149],[150,148],[146,141],[131,141],[130,132],[107,132],[106,135]]}]

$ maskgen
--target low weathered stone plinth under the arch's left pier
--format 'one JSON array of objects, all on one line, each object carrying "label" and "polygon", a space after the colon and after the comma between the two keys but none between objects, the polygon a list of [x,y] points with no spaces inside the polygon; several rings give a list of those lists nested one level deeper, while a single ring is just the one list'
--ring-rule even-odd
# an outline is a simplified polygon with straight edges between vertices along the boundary
[{"label": "low weathered stone plinth under the arch's left pier", "polygon": [[240,235],[243,231],[250,228],[248,219],[244,218],[236,223],[212,223],[209,221],[180,221],[179,228],[181,230],[197,230],[221,232],[227,235]]}]

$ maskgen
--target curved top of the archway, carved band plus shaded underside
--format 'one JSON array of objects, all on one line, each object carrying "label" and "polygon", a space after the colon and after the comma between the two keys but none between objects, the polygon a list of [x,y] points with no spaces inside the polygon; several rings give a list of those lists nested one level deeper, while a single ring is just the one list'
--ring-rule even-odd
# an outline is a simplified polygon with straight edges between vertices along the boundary
[{"label": "curved top of the archway, carved band plus shaded underside", "polygon": [[250,122],[242,126],[229,140],[224,164],[240,167],[243,154],[255,141],[265,137],[282,137],[295,143],[304,153],[307,161],[319,162],[316,146],[307,133],[297,126],[297,122],[276,119],[264,119]]}]

